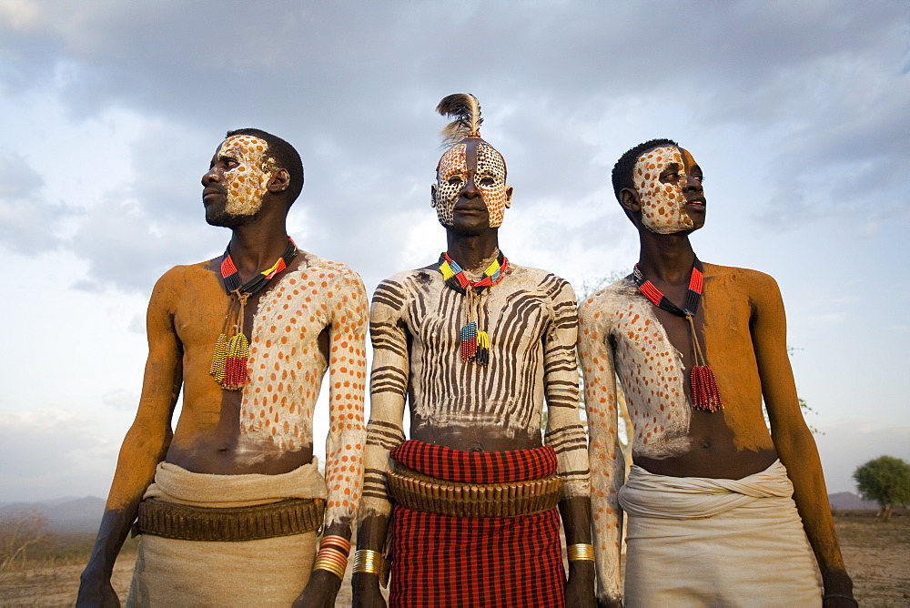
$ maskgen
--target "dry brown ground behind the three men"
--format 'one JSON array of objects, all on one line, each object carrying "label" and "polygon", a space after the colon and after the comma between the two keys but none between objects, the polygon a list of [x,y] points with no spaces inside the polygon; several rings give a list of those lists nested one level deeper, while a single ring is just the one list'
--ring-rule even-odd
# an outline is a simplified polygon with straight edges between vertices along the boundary
[{"label": "dry brown ground behind the three men", "polygon": [[[874,512],[841,512],[834,525],[860,605],[910,606],[910,512],[895,512],[887,523],[877,522]],[[121,602],[135,560],[135,549],[117,559],[113,583]],[[24,571],[0,573],[0,606],[73,605],[84,562],[30,564]],[[349,577],[350,569],[337,606],[350,605]]]}]

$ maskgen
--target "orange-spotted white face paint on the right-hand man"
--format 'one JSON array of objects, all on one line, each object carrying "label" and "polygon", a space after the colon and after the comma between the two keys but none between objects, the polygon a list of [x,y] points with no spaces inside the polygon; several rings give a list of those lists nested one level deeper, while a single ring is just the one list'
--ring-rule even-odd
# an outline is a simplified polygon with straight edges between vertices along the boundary
[{"label": "orange-spotted white face paint on the right-hand man", "polygon": [[[683,155],[688,163],[683,162]],[[678,147],[655,147],[639,157],[632,182],[642,205],[642,224],[658,234],[673,234],[696,228],[685,210],[682,187],[687,167],[695,164],[688,151]],[[661,181],[661,176],[675,179]]]}]

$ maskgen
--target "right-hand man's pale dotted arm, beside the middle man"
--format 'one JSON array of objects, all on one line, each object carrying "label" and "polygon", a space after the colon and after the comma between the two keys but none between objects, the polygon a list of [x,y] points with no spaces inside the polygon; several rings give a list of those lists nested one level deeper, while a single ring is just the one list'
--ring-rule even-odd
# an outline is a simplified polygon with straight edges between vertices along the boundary
[{"label": "right-hand man's pale dotted arm, beside the middle man", "polygon": [[617,434],[616,375],[608,341],[609,318],[609,311],[598,309],[594,299],[585,300],[579,308],[579,356],[590,437],[597,597],[602,604],[620,605],[622,511],[618,492],[625,481],[625,461]]}]

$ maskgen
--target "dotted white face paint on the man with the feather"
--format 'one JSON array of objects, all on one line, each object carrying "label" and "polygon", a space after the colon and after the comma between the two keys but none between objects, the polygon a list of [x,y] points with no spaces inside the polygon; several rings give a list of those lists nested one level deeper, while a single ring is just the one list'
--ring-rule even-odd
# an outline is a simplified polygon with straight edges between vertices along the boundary
[{"label": "dotted white face paint on the man with the feather", "polygon": [[[453,209],[469,177],[473,177],[480,198],[487,206],[490,228],[501,226],[505,208],[509,207],[506,164],[502,155],[485,141],[479,141],[474,149],[476,153],[469,155],[466,144],[455,144],[440,158],[434,206],[443,226],[453,225]],[[475,158],[469,159],[469,156]]]}]

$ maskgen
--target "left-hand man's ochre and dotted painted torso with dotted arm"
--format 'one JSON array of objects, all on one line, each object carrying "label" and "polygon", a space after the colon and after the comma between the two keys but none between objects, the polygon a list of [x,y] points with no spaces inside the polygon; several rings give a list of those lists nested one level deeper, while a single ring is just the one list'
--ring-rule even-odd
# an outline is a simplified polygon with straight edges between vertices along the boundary
[{"label": "left-hand man's ochre and dotted painted torso with dotted arm", "polygon": [[231,391],[209,374],[229,301],[216,269],[217,262],[177,267],[156,288],[168,292],[182,350],[184,401],[166,460],[218,474],[285,472],[309,462],[313,410],[331,368],[327,477],[354,497],[330,492],[329,506],[351,512],[364,433],[362,282],[341,264],[300,252],[248,300],[249,381]]}]

